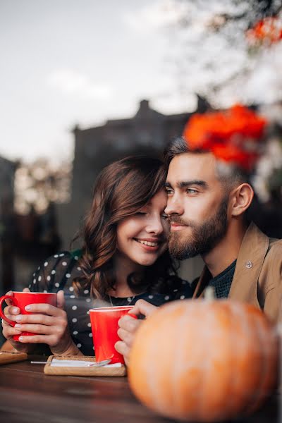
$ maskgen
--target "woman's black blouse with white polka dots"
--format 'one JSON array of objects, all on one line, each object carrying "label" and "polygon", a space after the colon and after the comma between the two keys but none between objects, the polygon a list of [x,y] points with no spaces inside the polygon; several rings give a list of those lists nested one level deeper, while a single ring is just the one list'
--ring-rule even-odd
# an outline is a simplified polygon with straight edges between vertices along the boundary
[{"label": "woman's black blouse with white polka dots", "polygon": [[33,292],[56,293],[61,289],[64,291],[71,337],[84,355],[94,354],[90,309],[109,305],[134,305],[141,298],[159,306],[169,301],[192,297],[192,289],[186,281],[183,281],[181,287],[173,290],[170,295],[142,293],[128,298],[109,297],[109,302],[105,302],[91,298],[90,291],[85,289],[78,297],[74,293],[72,282],[73,279],[82,276],[79,258],[79,252],[68,251],[49,257],[32,275],[29,288]]}]

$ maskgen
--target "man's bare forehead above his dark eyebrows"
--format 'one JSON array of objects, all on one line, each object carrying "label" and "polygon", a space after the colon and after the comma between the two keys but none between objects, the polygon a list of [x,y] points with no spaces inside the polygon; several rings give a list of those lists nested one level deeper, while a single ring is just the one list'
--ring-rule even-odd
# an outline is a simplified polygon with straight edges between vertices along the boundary
[{"label": "man's bare forehead above his dark eyebrows", "polygon": [[216,180],[216,160],[212,153],[184,153],[173,157],[168,167],[168,182]]}]

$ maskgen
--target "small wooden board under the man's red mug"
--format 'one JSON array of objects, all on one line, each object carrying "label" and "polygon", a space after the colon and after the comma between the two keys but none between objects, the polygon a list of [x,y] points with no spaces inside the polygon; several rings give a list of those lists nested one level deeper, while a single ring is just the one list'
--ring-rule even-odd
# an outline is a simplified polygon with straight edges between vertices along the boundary
[{"label": "small wooden board under the man's red mug", "polygon": [[[89,362],[96,362],[95,357],[91,356],[58,356],[50,355],[48,362],[56,358],[58,360],[83,360]],[[51,367],[49,363],[44,366],[45,374],[54,374],[61,376],[125,376],[126,367],[124,364],[121,367]]]}]

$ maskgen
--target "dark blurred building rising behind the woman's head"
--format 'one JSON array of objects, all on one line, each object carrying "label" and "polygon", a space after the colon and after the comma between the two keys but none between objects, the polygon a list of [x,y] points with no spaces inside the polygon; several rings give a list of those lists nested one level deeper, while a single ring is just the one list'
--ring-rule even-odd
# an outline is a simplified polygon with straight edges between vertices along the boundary
[{"label": "dark blurred building rising behind the woman's head", "polygon": [[[209,104],[199,97],[197,111],[203,112],[208,108]],[[63,247],[69,248],[82,216],[90,207],[94,180],[102,168],[130,154],[161,158],[168,142],[181,135],[190,115],[164,115],[151,109],[147,100],[142,100],[132,118],[106,121],[104,125],[94,128],[74,128],[71,202],[58,206],[58,226]],[[202,266],[201,260],[200,263]]]}]

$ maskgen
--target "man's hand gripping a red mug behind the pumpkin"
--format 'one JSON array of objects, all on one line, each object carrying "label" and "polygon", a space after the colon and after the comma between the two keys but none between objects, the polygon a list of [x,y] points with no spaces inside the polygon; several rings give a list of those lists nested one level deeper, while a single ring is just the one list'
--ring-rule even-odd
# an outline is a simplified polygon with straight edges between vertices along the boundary
[{"label": "man's hand gripping a red mug behind the pumpkin", "polygon": [[[156,309],[157,307],[155,305],[152,305],[145,300],[138,300],[133,309],[130,309],[129,313],[135,314],[135,316],[143,314],[145,317],[148,317]],[[140,324],[142,324],[142,320],[134,319],[133,317],[130,317],[130,314],[125,315],[118,320],[118,336],[121,338],[121,341],[118,341],[115,344],[115,348],[118,353],[123,355],[125,364],[128,364],[131,346],[135,338],[135,332]]]}]

